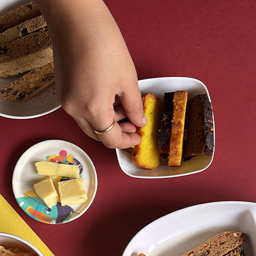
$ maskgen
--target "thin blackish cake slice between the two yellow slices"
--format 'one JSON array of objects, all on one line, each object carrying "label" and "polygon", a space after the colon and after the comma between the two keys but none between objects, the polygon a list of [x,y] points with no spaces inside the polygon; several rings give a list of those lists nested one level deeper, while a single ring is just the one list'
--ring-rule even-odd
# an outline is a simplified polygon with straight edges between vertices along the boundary
[{"label": "thin blackish cake slice between the two yellow slices", "polygon": [[164,93],[162,120],[158,138],[158,146],[162,157],[167,158],[170,150],[170,138],[172,132],[174,92]]}]

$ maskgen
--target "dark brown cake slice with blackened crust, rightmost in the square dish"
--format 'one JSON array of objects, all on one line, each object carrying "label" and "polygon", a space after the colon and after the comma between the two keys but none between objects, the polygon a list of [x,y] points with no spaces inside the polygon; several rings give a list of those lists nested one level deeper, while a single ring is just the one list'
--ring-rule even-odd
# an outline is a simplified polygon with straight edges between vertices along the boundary
[{"label": "dark brown cake slice with blackened crust, rightmost in the square dish", "polygon": [[212,155],[214,147],[212,105],[206,94],[199,94],[188,101],[185,129],[186,140],[183,158]]}]

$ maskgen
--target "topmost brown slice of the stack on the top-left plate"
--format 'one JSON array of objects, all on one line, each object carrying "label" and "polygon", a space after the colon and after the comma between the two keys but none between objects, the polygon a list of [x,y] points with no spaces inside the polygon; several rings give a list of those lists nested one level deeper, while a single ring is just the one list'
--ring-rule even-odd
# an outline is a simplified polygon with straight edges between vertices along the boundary
[{"label": "topmost brown slice of the stack on the top-left plate", "polygon": [[17,9],[7,12],[0,17],[0,33],[39,15],[41,15],[41,12],[35,2],[21,5]]}]

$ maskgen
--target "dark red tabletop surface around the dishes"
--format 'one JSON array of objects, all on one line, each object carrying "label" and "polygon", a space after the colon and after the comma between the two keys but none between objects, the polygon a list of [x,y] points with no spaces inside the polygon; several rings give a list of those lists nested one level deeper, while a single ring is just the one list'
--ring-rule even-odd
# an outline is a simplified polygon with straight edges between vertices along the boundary
[{"label": "dark red tabletop surface around the dishes", "polygon": [[[135,179],[122,172],[114,149],[86,137],[62,109],[35,119],[0,117],[1,194],[56,256],[122,255],[141,228],[167,213],[214,201],[256,202],[256,2],[105,3],[122,31],[139,79],[185,76],[207,86],[215,119],[215,154],[211,166],[198,174]],[[12,172],[20,155],[47,139],[81,147],[98,174],[90,209],[65,225],[31,219],[12,192]]]}]

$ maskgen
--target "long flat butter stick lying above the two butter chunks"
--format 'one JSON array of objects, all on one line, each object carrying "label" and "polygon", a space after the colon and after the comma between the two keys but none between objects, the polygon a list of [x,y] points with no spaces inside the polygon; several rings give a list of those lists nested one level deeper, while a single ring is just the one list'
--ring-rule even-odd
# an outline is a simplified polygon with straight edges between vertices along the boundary
[{"label": "long flat butter stick lying above the two butter chunks", "polygon": [[79,178],[79,168],[77,165],[57,164],[53,162],[41,161],[36,163],[36,169],[40,175]]}]

